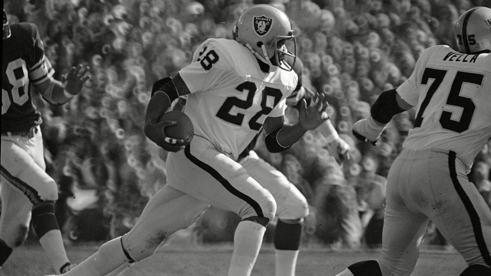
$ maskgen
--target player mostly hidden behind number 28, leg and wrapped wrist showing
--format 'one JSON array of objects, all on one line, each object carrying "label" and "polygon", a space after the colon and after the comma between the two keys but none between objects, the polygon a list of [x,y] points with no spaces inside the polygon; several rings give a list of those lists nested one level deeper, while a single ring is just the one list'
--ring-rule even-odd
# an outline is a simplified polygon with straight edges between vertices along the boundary
[{"label": "player mostly hidden behind number 28, leg and wrapped wrist showing", "polygon": [[[287,57],[285,61],[293,65],[293,58]],[[286,108],[298,110],[302,99],[305,99],[307,103],[314,104],[313,101],[317,97],[317,93],[302,85],[303,62],[300,59],[296,59],[295,66],[292,67],[298,76],[298,82],[293,93],[286,98]],[[173,110],[183,110],[186,105],[186,98],[186,96],[183,96],[180,97],[178,102],[174,102]],[[322,132],[327,139],[330,139],[330,143],[327,143],[329,152],[336,156],[336,159],[340,162],[345,159],[349,160],[349,145],[341,139],[330,120],[326,120],[316,130]],[[325,132],[326,130],[327,132]],[[256,144],[261,151],[266,150],[264,148],[262,130],[256,134],[249,146],[239,154],[237,162],[263,188],[270,191],[276,201],[278,222],[276,223],[273,242],[276,260],[275,275],[295,275],[304,218],[309,214],[308,203],[305,196],[293,183],[288,181],[285,175],[259,157],[254,151],[257,148]]]}]

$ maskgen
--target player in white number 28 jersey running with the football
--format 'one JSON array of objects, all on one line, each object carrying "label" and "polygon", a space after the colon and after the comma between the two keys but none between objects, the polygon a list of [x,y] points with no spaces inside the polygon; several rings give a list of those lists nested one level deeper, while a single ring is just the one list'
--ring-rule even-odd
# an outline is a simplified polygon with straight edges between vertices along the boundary
[{"label": "player in white number 28 jersey running with the football", "polygon": [[[252,6],[237,20],[234,38],[207,39],[191,64],[154,84],[144,130],[169,151],[167,183],[150,199],[129,233],[106,242],[66,275],[105,275],[142,260],[210,205],[242,217],[228,275],[251,273],[265,225],[276,213],[276,201],[236,159],[261,127],[270,151],[287,149],[306,130],[327,120],[322,117],[327,102],[323,96],[314,106],[303,101],[299,123],[284,124],[285,101],[297,85],[297,75],[282,62],[296,53],[284,45],[292,40],[296,48],[284,12],[270,5]],[[185,113],[194,127],[189,145],[166,137],[164,128],[173,122],[159,122],[183,95],[187,95]]]}]

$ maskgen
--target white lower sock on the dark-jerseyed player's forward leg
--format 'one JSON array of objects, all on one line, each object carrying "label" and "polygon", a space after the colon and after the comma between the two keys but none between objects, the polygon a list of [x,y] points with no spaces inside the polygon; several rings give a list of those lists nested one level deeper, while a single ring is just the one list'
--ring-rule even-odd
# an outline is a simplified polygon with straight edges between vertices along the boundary
[{"label": "white lower sock on the dark-jerseyed player's forward leg", "polygon": [[53,229],[39,238],[42,248],[46,251],[48,258],[55,267],[56,273],[60,272],[62,265],[70,262],[66,257],[65,247],[63,245],[63,238],[59,229]]}]

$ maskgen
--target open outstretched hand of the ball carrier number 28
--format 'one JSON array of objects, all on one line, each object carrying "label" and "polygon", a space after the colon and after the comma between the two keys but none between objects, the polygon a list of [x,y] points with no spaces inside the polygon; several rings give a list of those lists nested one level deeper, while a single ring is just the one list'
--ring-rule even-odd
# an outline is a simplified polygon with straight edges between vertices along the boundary
[{"label": "open outstretched hand of the ball carrier number 28", "polygon": [[299,124],[306,130],[318,127],[324,121],[329,119],[328,116],[323,116],[323,114],[327,114],[325,112],[327,106],[329,106],[329,104],[325,100],[325,95],[322,93],[309,106],[307,106],[307,101],[302,99],[300,103],[300,111],[298,113]]}]

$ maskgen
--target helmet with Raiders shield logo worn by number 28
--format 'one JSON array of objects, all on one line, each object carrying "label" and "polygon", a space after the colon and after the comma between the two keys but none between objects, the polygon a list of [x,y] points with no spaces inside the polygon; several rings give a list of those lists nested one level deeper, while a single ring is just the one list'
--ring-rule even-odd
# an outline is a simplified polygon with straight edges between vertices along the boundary
[{"label": "helmet with Raiders shield logo worn by number 28", "polygon": [[[297,56],[297,40],[288,16],[271,5],[255,5],[245,10],[235,23],[234,39],[242,43],[262,62],[292,71]],[[294,52],[284,45],[293,40]],[[285,56],[294,58],[292,66],[281,62]]]}]

